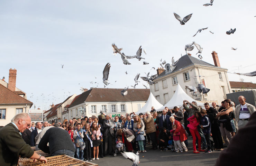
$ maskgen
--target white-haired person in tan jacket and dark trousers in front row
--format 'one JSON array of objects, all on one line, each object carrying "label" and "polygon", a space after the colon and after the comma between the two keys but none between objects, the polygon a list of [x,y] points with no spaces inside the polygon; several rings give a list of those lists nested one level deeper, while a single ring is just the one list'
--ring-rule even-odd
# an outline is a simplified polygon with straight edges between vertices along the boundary
[{"label": "white-haired person in tan jacket and dark trousers in front row", "polygon": [[149,111],[145,113],[145,116],[143,115],[143,120],[146,123],[146,133],[150,136],[152,140],[152,149],[157,149],[157,140],[156,140],[156,127],[154,123],[154,118],[150,114]]}]

